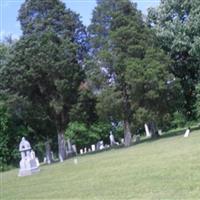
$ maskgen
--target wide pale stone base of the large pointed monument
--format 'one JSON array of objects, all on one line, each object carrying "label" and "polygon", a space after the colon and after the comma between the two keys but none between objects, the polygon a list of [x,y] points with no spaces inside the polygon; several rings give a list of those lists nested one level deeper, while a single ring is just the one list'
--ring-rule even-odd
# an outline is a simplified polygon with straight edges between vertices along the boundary
[{"label": "wide pale stone base of the large pointed monument", "polygon": [[30,176],[40,171],[38,159],[22,159],[18,176]]}]

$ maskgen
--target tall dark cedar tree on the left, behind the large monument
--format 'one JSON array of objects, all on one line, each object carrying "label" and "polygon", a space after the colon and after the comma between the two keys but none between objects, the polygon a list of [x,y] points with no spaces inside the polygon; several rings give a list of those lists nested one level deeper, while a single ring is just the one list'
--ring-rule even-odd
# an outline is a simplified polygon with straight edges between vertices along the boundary
[{"label": "tall dark cedar tree on the left, behind the large monument", "polygon": [[65,126],[84,79],[85,29],[59,0],[26,0],[18,19],[23,36],[3,71],[4,89],[36,105],[52,121],[62,161]]}]

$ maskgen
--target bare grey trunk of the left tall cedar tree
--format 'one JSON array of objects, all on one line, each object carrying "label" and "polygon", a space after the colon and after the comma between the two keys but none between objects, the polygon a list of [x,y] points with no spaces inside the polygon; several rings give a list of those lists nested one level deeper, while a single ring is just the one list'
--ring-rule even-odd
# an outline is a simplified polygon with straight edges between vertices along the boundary
[{"label": "bare grey trunk of the left tall cedar tree", "polygon": [[64,138],[64,131],[58,132],[58,154],[60,162],[66,159],[66,147],[65,147],[65,138]]}]

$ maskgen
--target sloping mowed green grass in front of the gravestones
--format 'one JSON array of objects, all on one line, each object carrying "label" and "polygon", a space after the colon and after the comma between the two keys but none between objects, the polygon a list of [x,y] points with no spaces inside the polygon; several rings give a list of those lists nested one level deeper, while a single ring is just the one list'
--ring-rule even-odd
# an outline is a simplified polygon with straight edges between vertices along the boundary
[{"label": "sloping mowed green grass in front of the gravestones", "polygon": [[200,131],[1,173],[0,199],[200,199]]}]

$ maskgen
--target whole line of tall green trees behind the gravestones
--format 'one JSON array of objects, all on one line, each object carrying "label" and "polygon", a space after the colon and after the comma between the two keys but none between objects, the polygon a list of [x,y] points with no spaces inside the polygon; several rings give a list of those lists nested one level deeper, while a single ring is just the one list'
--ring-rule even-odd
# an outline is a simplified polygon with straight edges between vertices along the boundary
[{"label": "whole line of tall green trees behind the gravestones", "polygon": [[[17,165],[28,138],[67,158],[109,131],[131,144],[199,118],[198,0],[161,1],[142,15],[130,0],[98,0],[91,24],[60,0],[27,0],[22,36],[0,44],[0,165]],[[46,150],[45,150],[46,147]]]}]

